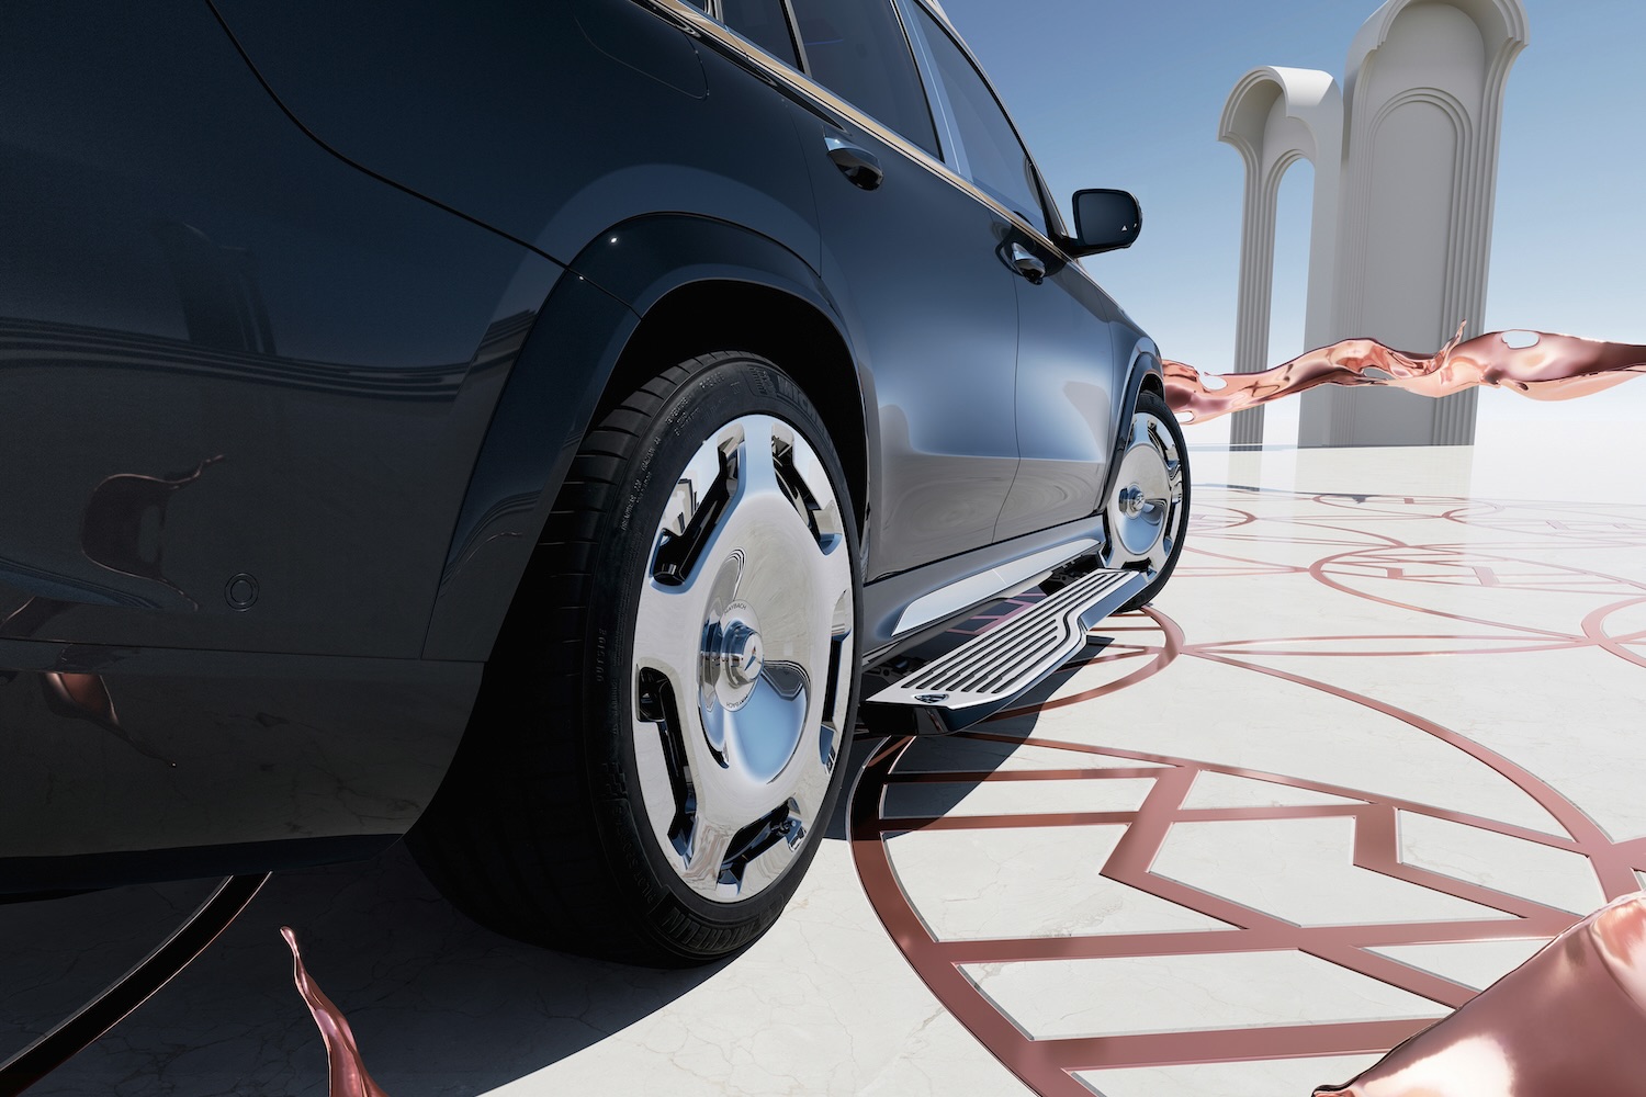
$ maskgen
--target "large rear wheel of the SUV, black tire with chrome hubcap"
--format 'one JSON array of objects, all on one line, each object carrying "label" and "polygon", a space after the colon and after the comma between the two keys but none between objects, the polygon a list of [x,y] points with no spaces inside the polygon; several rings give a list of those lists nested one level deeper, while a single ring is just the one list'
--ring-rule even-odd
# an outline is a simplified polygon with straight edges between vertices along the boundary
[{"label": "large rear wheel of the SUV, black tire with chrome hubcap", "polygon": [[[716,431],[732,431],[726,437],[746,436],[747,444],[723,442],[721,449],[703,457],[711,444],[708,439],[719,437]],[[756,454],[759,461],[756,434],[760,431],[772,437],[770,480],[779,485],[777,493],[756,493],[764,465],[751,467],[747,474],[726,472],[728,467],[744,469],[751,461],[747,454]],[[815,464],[810,459],[805,462],[810,482],[795,472],[802,447],[787,442],[788,465],[777,456],[785,444],[779,436],[790,434],[805,439],[807,452],[816,457]],[[734,456],[729,459],[721,457],[724,444],[732,444]],[[736,502],[718,503],[718,516],[711,515],[716,536],[706,548],[703,538],[696,538],[695,549],[688,546],[681,551],[678,546],[693,538],[665,531],[662,521],[668,508],[686,513],[695,507],[693,515],[709,513],[709,492],[696,498],[696,490],[677,488],[681,477],[691,475],[688,462],[695,457],[693,467],[700,470],[719,461],[721,472],[714,475],[723,479],[716,484],[732,485],[724,492]],[[787,520],[772,510],[772,500],[787,498],[797,523],[803,525],[807,508],[821,505],[818,465],[826,475],[835,508],[810,515],[810,535],[823,561],[815,567],[820,574],[826,571],[828,582],[844,582],[849,590],[849,604],[844,599],[836,602],[835,618],[826,625],[833,651],[826,687],[816,681],[820,674],[810,673],[816,668],[803,664],[802,671],[793,669],[803,660],[783,663],[775,658],[775,648],[770,660],[762,656],[760,645],[775,645],[774,636],[788,628],[790,617],[805,613],[779,615],[770,625],[744,622],[754,613],[752,604],[739,594],[746,592],[744,584],[749,590],[765,592],[777,574],[765,569],[788,569],[792,561],[779,561],[782,567],[770,561],[759,562],[749,546],[739,548],[749,551],[736,564],[728,562],[731,556],[721,564],[716,564],[719,556],[711,559],[734,535],[747,535],[751,544],[800,544],[798,554],[805,556],[807,535],[788,528]],[[701,472],[696,475],[701,477]],[[744,490],[736,487],[739,484],[749,487]],[[681,503],[691,498],[696,503]],[[760,500],[760,508],[752,500]],[[734,526],[732,518],[741,525]],[[690,523],[685,526],[690,533]],[[787,541],[770,539],[769,530],[777,528]],[[839,543],[831,538],[839,538]],[[698,556],[690,556],[690,551]],[[844,572],[831,554],[835,551],[843,554]],[[685,627],[657,628],[657,622],[675,618],[660,615],[653,607],[673,613],[677,605],[695,605],[686,595],[696,599],[698,584],[706,582],[706,574],[690,572],[688,582],[678,584],[685,594],[677,602],[675,587],[665,589],[658,579],[673,576],[672,571],[657,571],[665,553],[672,553],[670,567],[678,569],[681,561],[688,569],[719,567],[716,584],[734,574],[731,602],[721,597],[711,605],[709,612],[718,617],[709,622],[713,628],[704,623],[701,638],[691,636]],[[772,551],[769,556],[777,559],[783,554]],[[803,566],[813,564],[807,561]],[[754,579],[749,579],[751,574]],[[826,586],[818,581],[820,599],[828,597]],[[709,584],[701,590],[721,587]],[[728,609],[716,609],[723,604]],[[532,944],[655,967],[703,964],[742,949],[780,914],[816,852],[839,796],[858,701],[854,641],[859,604],[851,495],[828,431],[800,386],[752,354],[714,354],[667,370],[612,408],[584,437],[486,668],[458,758],[408,837],[413,855],[459,910],[491,929]],[[744,609],[729,609],[732,605]],[[793,602],[782,602],[782,607],[790,605]],[[640,627],[642,609],[650,615],[645,628]],[[744,617],[734,622],[734,613]],[[688,689],[677,689],[673,678],[647,669],[650,650],[637,651],[637,645],[675,645],[677,633],[685,635],[683,643],[696,645],[693,653],[709,645],[711,635],[713,643],[724,646],[713,648],[714,658],[703,646],[703,661],[695,664],[695,671],[685,671],[700,676],[698,686],[709,701],[700,701],[698,694],[690,699],[678,696]],[[807,658],[816,651],[815,622],[797,623],[790,633],[783,640],[785,650],[798,650]],[[726,646],[734,643],[728,638],[732,635],[742,645],[736,651]],[[685,648],[670,651],[678,656]],[[690,661],[673,658],[668,666]],[[785,678],[774,686],[780,668],[787,668]],[[793,697],[787,692],[790,687],[798,691]],[[839,696],[841,687],[844,697]],[[729,692],[723,696],[723,691]],[[739,691],[742,707],[734,709]],[[756,694],[759,706],[754,706]],[[818,719],[813,719],[813,701],[821,714]],[[688,702],[700,707],[688,709]],[[759,707],[759,714],[742,717],[751,707]],[[767,719],[770,712],[779,712],[780,719]],[[653,717],[658,717],[655,727]],[[726,752],[713,757],[726,766],[741,763],[749,771],[756,766],[744,755],[774,750],[772,743],[780,753],[780,745],[787,742],[783,737],[793,734],[792,724],[798,720],[800,745],[772,778],[772,788],[756,796],[782,793],[788,766],[803,766],[800,771],[805,775],[805,785],[790,789],[793,796],[787,799],[793,811],[779,817],[779,806],[774,806],[751,822],[754,831],[737,831],[724,847],[736,847],[734,855],[721,860],[718,868],[714,834],[724,827],[711,824],[721,822],[721,816],[734,816],[736,809],[731,806],[734,798],[728,794],[721,798],[728,803],[714,808],[719,814],[711,817],[708,796],[718,788],[713,781],[731,778],[711,773],[718,763],[696,766],[696,761],[677,757],[691,755],[703,743],[672,740],[693,729],[704,742],[711,740],[713,735],[704,730],[711,717],[721,720],[716,727]],[[691,719],[696,719],[695,725]],[[742,730],[744,724],[749,730]],[[770,734],[769,725],[775,729]],[[647,727],[653,730],[647,732]],[[660,745],[652,743],[652,734]],[[739,750],[744,743],[759,750],[737,755],[728,745],[728,735],[741,735],[734,740]],[[802,745],[818,752],[818,765],[802,758]],[[825,761],[828,771],[820,773]],[[663,786],[657,778],[660,765],[667,778]],[[756,788],[760,788],[757,781]],[[798,791],[802,788],[805,796]],[[742,785],[736,789],[741,794]],[[649,796],[653,801],[650,811]],[[668,814],[667,808],[657,808],[658,796],[675,798],[668,824],[658,822]],[[810,817],[798,819],[805,814],[800,806]],[[696,857],[693,867],[683,867],[690,859],[678,844],[680,827],[686,827],[686,842]],[[797,827],[798,839],[793,837]],[[708,835],[701,850],[696,849],[700,835]],[[739,840],[744,845],[736,845]],[[744,855],[746,860],[739,860]],[[756,868],[760,875],[751,880],[749,873]],[[706,872],[716,873],[713,882]],[[728,878],[736,886],[728,885]]]}]

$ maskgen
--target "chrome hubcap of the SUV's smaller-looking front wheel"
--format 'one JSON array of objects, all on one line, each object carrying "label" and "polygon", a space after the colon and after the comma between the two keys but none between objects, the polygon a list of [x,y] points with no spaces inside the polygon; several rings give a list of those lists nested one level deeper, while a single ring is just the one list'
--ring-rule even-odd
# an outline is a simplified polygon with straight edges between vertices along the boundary
[{"label": "chrome hubcap of the SUV's smaller-looking front wheel", "polygon": [[1183,464],[1170,429],[1149,411],[1132,416],[1131,436],[1108,503],[1104,567],[1142,562],[1165,567],[1183,531]]}]

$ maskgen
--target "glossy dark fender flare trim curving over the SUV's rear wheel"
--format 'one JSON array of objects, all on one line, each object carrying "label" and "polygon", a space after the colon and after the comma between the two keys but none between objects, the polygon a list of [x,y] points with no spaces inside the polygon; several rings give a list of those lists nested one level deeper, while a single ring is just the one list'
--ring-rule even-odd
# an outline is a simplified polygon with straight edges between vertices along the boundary
[{"label": "glossy dark fender flare trim curving over the SUV's rear wheel", "polygon": [[[709,283],[760,288],[803,303],[825,317],[849,354],[844,324],[816,273],[769,237],[683,214],[637,217],[604,230],[550,293],[499,395],[453,530],[423,658],[491,655],[602,398],[644,383],[644,377],[624,372],[624,354],[642,322],[670,294]],[[851,359],[856,363],[858,355]],[[853,368],[861,405],[872,391]],[[797,380],[805,385],[805,378]],[[863,423],[874,431],[872,416]],[[863,444],[872,484],[876,439],[866,436]]]}]

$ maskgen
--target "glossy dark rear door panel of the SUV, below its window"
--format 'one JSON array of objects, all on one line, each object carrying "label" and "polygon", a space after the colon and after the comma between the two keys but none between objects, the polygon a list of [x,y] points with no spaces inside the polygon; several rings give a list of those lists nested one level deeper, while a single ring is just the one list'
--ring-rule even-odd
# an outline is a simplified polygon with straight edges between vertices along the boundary
[{"label": "glossy dark rear door panel of the SUV, below its window", "polygon": [[[803,127],[823,225],[823,281],[874,378],[881,480],[869,581],[994,539],[1017,470],[1009,414],[1017,276],[1006,220],[872,133]],[[844,137],[886,166],[872,191],[826,156]],[[933,276],[943,271],[942,276]]]}]

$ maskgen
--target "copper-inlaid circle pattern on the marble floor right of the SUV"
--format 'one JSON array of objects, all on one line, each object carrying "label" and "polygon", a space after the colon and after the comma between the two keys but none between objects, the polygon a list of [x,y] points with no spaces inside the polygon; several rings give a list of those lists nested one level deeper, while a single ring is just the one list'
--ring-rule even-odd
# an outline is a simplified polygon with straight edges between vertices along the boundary
[{"label": "copper-inlaid circle pattern on the marble floor right of the SUV", "polygon": [[1646,872],[1646,507],[1198,492],[1157,607],[854,796],[894,941],[1045,1095],[1341,1082]]}]

